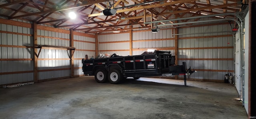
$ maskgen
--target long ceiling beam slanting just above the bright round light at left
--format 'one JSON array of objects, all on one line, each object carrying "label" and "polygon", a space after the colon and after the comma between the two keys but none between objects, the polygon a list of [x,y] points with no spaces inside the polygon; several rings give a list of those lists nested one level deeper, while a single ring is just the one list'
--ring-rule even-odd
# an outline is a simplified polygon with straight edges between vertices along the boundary
[{"label": "long ceiling beam slanting just above the bright round light at left", "polygon": [[90,5],[90,4],[104,2],[104,1],[107,1],[107,0],[96,0],[96,1],[95,0],[88,0],[86,4],[71,5],[71,6],[61,7],[61,8],[54,8],[54,9],[46,10],[46,11],[43,11],[43,12],[34,12],[34,13],[24,14],[24,15],[20,15],[20,16],[14,16],[11,19],[33,16],[33,15],[38,15],[38,14],[44,14],[44,13],[48,13],[48,12],[56,12],[56,11],[61,11],[61,10],[79,8],[79,7],[87,6],[87,5]]}]

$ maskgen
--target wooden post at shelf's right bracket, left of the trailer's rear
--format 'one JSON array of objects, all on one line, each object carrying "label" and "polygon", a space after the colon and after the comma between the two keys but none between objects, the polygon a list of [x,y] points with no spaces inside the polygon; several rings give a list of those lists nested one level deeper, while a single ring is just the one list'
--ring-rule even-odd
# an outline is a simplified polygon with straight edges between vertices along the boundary
[{"label": "wooden post at shelf's right bracket, left of the trailer's rear", "polygon": [[[71,28],[70,29],[70,47],[74,47],[74,31]],[[69,54],[70,54],[70,77],[74,77],[74,55],[72,55],[74,53],[74,50],[70,50]],[[72,57],[71,57],[72,56]]]}]

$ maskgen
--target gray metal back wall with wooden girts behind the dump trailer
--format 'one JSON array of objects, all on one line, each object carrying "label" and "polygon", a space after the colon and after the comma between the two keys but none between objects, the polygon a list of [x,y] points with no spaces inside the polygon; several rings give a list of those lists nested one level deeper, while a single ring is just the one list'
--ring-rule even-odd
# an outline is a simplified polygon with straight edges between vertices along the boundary
[{"label": "gray metal back wall with wooden girts behind the dump trailer", "polygon": [[[220,31],[231,31],[230,25],[209,25],[178,29],[178,34],[186,35],[178,35],[177,65],[182,65],[182,62],[185,61],[187,68],[192,66],[192,68],[198,69],[198,72],[192,74],[190,78],[224,80],[227,67],[228,72],[234,73],[234,37],[229,32]],[[123,35],[123,33],[100,35],[99,41],[129,41],[128,37],[128,34]],[[109,50],[108,53],[120,53],[121,51],[111,50],[128,49],[128,46],[129,42],[102,43],[99,48],[100,50]],[[158,33],[152,33],[150,30],[134,31],[132,33],[132,55],[140,55],[147,49],[162,49],[162,51],[171,51],[172,55],[174,55],[174,47],[173,29],[161,29]],[[124,55],[129,55],[128,51],[125,52],[126,54]]]}]

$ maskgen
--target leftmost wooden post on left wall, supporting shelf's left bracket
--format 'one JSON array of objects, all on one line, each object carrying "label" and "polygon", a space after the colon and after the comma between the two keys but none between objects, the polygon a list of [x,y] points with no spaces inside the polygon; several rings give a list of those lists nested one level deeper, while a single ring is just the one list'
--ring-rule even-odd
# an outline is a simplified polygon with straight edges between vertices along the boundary
[{"label": "leftmost wooden post on left wall, supporting shelf's left bracket", "polygon": [[[33,23],[33,37],[34,37],[34,42],[33,46],[37,45],[37,24],[36,22]],[[37,57],[37,49],[33,48],[33,53],[34,53],[34,82],[38,82],[38,57]]]}]

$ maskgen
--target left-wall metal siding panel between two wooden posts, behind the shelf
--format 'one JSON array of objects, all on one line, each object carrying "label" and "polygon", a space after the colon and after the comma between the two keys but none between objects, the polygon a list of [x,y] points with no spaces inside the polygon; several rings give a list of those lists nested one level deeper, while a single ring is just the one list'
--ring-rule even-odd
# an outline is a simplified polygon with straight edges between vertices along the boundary
[{"label": "left-wall metal siding panel between two wooden posts, behind the shelf", "polygon": [[[38,37],[38,41],[37,41],[38,45],[54,45],[54,46],[62,46],[62,47],[70,46],[69,34],[38,29],[37,35],[56,38],[54,39],[54,38]],[[62,39],[57,39],[57,38],[62,38]],[[54,70],[54,69],[70,68],[70,60],[68,56],[69,56],[69,52],[67,52],[67,50],[48,49],[48,48],[42,49],[38,57],[38,70],[49,70],[49,71],[39,72],[38,80],[70,76],[70,70]]]}]

